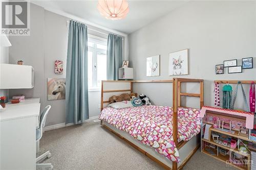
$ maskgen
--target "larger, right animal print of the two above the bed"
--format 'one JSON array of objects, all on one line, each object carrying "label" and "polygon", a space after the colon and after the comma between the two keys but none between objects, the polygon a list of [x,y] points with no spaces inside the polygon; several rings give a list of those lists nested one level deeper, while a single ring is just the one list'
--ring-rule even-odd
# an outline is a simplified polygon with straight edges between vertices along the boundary
[{"label": "larger, right animal print of the two above the bed", "polygon": [[188,75],[188,49],[169,53],[169,76]]}]

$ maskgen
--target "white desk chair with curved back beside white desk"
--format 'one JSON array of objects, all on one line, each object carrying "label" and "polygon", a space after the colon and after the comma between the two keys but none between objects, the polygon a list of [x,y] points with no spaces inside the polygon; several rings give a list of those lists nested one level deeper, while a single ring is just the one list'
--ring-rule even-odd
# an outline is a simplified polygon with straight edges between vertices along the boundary
[{"label": "white desk chair with curved back beside white desk", "polygon": [[[46,108],[42,111],[40,115],[40,127],[36,129],[36,142],[40,140],[42,137],[42,129],[45,127],[46,117],[50,109],[51,109],[51,105],[46,106]],[[46,153],[37,157],[36,162],[38,162],[42,158],[50,158],[51,156],[52,154],[50,153],[50,151],[47,151]],[[36,163],[36,168],[50,170],[50,169],[53,169],[53,165],[51,163]]]}]

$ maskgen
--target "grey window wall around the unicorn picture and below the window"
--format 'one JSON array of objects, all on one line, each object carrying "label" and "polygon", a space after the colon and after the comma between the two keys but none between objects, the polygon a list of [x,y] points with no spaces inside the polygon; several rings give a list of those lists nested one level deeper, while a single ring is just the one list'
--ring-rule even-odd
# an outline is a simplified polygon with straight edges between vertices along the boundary
[{"label": "grey window wall around the unicorn picture and below the window", "polygon": [[[47,78],[66,78],[66,61],[67,61],[67,46],[68,46],[68,26],[67,18],[45,10],[45,56],[44,56],[44,82]],[[94,28],[96,29],[96,28]],[[89,34],[97,35],[102,38],[107,38],[97,32],[88,30]],[[54,61],[62,60],[64,64],[63,74],[57,75],[54,73]],[[45,83],[46,84],[46,83]],[[47,125],[55,125],[66,122],[66,102],[65,100],[47,100],[47,86],[44,86],[44,101],[45,106],[51,105],[51,114],[47,118]],[[89,117],[97,116],[100,113],[98,105],[100,104],[100,92],[89,92]]]}]

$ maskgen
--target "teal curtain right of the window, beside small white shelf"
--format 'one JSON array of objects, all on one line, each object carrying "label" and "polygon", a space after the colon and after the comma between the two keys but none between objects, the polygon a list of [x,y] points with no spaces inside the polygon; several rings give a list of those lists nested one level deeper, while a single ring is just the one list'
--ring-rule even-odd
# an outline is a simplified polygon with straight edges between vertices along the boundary
[{"label": "teal curtain right of the window, beside small white shelf", "polygon": [[106,78],[118,80],[118,69],[122,67],[122,37],[109,34],[106,51]]}]

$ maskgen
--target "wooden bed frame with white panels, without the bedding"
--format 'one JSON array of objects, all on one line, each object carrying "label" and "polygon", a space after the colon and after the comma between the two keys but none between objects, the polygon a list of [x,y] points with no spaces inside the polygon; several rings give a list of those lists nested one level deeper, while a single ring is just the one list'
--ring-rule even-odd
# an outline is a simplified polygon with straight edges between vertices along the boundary
[{"label": "wooden bed frame with white panels, without the bedding", "polygon": [[[201,79],[184,79],[184,78],[173,78],[173,80],[151,80],[151,81],[102,81],[101,82],[101,111],[105,108],[110,101],[108,100],[112,95],[119,95],[124,92],[134,92],[134,83],[172,83],[173,84],[173,110],[172,110],[172,126],[173,126],[173,140],[176,144],[176,148],[179,151],[180,163],[172,162],[165,159],[162,155],[158,154],[151,147],[142,144],[139,140],[133,138],[129,133],[121,131],[116,127],[110,125],[104,120],[100,121],[100,124],[106,129],[110,130],[121,139],[131,144],[135,149],[151,158],[153,161],[160,164],[165,169],[182,169],[187,161],[196,153],[200,147],[199,134],[193,138],[178,142],[178,109],[180,107],[187,108],[186,106],[181,106],[181,97],[189,96],[200,99],[200,109],[204,104],[203,100],[203,80]],[[181,85],[185,83],[199,83],[200,93],[187,93],[181,92]]]}]

